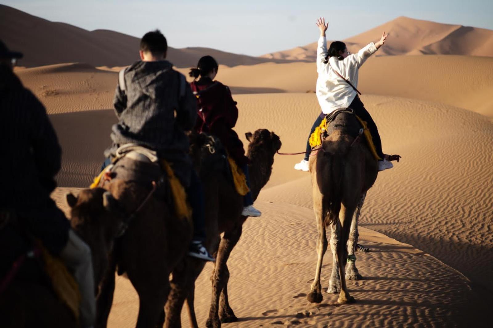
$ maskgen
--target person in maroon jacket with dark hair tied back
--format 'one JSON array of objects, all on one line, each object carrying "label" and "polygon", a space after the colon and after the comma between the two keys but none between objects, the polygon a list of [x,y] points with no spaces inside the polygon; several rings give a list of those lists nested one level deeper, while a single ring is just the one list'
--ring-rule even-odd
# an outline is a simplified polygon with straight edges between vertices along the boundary
[{"label": "person in maroon jacket with dark hair tied back", "polygon": [[[199,60],[197,68],[190,70],[194,81],[190,84],[193,93],[198,96],[197,113],[199,118],[195,125],[197,132],[212,134],[221,140],[229,156],[242,168],[246,183],[250,188],[248,175],[248,158],[238,134],[233,130],[238,120],[236,101],[231,96],[227,86],[219,81],[213,81],[217,74],[217,62],[211,56],[204,56]],[[200,79],[196,79],[200,76]],[[242,215],[260,216],[262,213],[253,207],[251,192],[243,198],[244,208]]]}]

